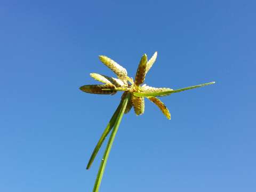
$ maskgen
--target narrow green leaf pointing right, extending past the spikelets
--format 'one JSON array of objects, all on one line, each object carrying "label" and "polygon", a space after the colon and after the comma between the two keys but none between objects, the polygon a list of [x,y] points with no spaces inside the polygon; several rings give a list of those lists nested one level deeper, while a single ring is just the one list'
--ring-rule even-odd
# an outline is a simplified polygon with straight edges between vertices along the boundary
[{"label": "narrow green leaf pointing right, extending past the spikelets", "polygon": [[178,89],[178,90],[171,90],[171,91],[161,91],[161,92],[154,92],[154,93],[143,93],[143,92],[134,92],[133,95],[137,96],[137,97],[159,97],[159,96],[165,96],[165,95],[169,95],[172,93],[178,93],[181,91],[186,91],[186,90],[190,90],[190,89],[195,89],[197,87],[202,87],[202,86],[206,86],[206,85],[211,85],[214,84],[215,82],[210,82],[210,83],[204,83],[201,85],[194,85],[194,86],[189,86],[189,87],[185,87],[182,89]]}]

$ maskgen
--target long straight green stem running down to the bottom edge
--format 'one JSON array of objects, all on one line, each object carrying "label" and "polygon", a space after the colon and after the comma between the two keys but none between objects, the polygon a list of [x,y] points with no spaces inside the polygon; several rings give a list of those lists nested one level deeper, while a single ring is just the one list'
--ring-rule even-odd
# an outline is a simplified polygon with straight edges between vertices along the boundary
[{"label": "long straight green stem running down to the bottom edge", "polygon": [[113,142],[114,142],[119,124],[120,124],[120,122],[122,120],[122,117],[124,115],[124,111],[125,111],[125,108],[127,106],[127,102],[129,100],[129,98],[130,98],[130,94],[127,94],[125,99],[122,102],[122,107],[121,107],[121,109],[120,109],[120,111],[117,115],[116,122],[115,122],[115,125],[113,127],[113,131],[111,132],[111,135],[110,135],[110,138],[108,140],[108,144],[107,144],[105,153],[104,153],[104,155],[102,157],[102,160],[101,160],[100,169],[99,169],[97,178],[96,178],[95,183],[94,183],[93,192],[98,192],[99,191],[100,183],[101,183],[102,176],[103,176],[106,164],[107,164],[108,156],[109,156],[111,147],[113,145]]}]

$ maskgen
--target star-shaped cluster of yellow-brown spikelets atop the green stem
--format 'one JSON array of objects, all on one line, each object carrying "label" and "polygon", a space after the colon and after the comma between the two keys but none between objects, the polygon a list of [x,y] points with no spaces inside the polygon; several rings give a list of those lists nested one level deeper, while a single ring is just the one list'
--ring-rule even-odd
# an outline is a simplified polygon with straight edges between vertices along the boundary
[{"label": "star-shaped cluster of yellow-brown spikelets atop the green stem", "polygon": [[[127,71],[121,65],[119,65],[114,60],[100,55],[100,60],[109,67],[116,75],[117,78],[108,77],[101,74],[91,73],[91,77],[95,80],[103,83],[101,85],[84,85],[81,86],[80,89],[86,93],[94,93],[94,94],[115,94],[117,91],[124,91],[121,100],[125,98],[127,94],[130,93],[131,97],[127,102],[127,106],[124,113],[128,113],[131,108],[134,108],[134,111],[137,115],[142,115],[145,110],[145,97],[138,96],[139,93],[159,93],[159,92],[167,92],[166,94],[161,94],[159,96],[165,96],[172,91],[170,88],[156,88],[151,87],[146,84],[143,84],[145,81],[146,74],[148,73],[149,69],[153,66],[154,62],[156,61],[157,52],[148,60],[147,55],[143,54],[140,60],[137,73],[133,78],[127,75]],[[142,85],[143,84],[143,85]],[[142,85],[142,86],[141,86]],[[137,94],[137,95],[136,95]],[[171,114],[164,103],[159,100],[157,97],[148,96],[146,97],[153,103],[155,103],[159,109],[163,112],[163,114],[167,117],[167,119],[171,119]]]}]

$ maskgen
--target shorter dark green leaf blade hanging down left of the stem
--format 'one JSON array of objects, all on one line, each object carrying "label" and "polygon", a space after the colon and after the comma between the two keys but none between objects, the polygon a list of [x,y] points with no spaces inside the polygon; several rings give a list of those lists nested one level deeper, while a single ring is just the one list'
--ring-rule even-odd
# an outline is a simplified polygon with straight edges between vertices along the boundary
[{"label": "shorter dark green leaf blade hanging down left of the stem", "polygon": [[115,113],[113,114],[113,116],[111,117],[106,129],[104,130],[104,132],[102,133],[97,145],[95,146],[93,152],[92,152],[92,155],[90,157],[90,160],[86,166],[86,169],[90,169],[93,161],[94,161],[94,158],[95,156],[97,155],[98,151],[100,150],[100,147],[102,146],[102,143],[103,141],[106,139],[108,133],[111,131],[112,127],[114,126],[115,122],[116,122],[116,117],[121,109],[121,106],[122,106],[122,101],[121,103],[119,104],[119,106],[117,107]]}]

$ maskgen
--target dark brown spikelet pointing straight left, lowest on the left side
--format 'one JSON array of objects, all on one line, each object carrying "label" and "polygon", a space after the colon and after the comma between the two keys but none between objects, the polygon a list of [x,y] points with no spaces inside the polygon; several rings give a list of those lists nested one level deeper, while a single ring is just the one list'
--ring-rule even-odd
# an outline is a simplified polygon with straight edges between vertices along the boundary
[{"label": "dark brown spikelet pointing straight left, lowest on the left side", "polygon": [[[116,87],[113,84],[105,84],[105,85],[84,85],[81,86],[80,89],[86,93],[93,94],[115,94]],[[108,90],[104,90],[108,89]]]}]

